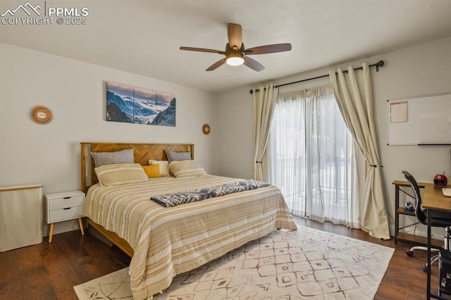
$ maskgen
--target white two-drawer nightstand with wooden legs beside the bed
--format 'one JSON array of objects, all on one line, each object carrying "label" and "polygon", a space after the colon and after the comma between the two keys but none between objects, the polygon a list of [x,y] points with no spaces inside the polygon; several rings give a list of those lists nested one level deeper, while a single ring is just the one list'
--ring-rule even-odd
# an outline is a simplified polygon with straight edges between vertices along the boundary
[{"label": "white two-drawer nightstand with wooden legs beside the bed", "polygon": [[45,199],[47,204],[47,223],[50,224],[49,243],[51,243],[51,238],[54,235],[54,225],[56,222],[78,218],[82,235],[85,235],[81,216],[85,193],[82,191],[73,191],[46,194]]}]

